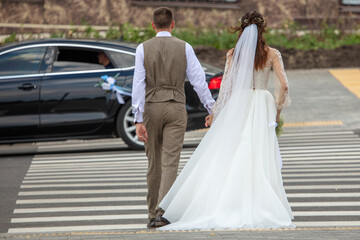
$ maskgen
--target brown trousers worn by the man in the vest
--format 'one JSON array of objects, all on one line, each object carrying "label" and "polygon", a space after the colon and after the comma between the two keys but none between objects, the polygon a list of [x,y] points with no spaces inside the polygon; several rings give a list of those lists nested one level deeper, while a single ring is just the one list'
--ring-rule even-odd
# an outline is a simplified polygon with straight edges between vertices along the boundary
[{"label": "brown trousers worn by the man in the vest", "polygon": [[149,218],[163,213],[159,203],[174,183],[187,124],[185,104],[167,101],[146,103],[144,124],[148,133],[145,143],[148,158],[147,203]]}]

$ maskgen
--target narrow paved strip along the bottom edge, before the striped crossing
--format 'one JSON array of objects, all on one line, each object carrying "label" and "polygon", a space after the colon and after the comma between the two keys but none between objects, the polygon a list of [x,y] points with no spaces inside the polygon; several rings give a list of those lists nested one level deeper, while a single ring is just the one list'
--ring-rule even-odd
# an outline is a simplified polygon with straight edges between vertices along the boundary
[{"label": "narrow paved strip along the bottom edge, before the striped crossing", "polygon": [[225,230],[225,231],[174,231],[159,232],[152,230],[124,231],[124,232],[92,232],[92,233],[54,233],[54,234],[0,234],[0,239],[30,239],[30,240],[92,240],[92,239],[123,239],[123,240],[234,240],[234,239],[283,239],[283,240],[358,240],[360,227],[358,228],[318,228],[318,229],[295,229],[295,230]]}]

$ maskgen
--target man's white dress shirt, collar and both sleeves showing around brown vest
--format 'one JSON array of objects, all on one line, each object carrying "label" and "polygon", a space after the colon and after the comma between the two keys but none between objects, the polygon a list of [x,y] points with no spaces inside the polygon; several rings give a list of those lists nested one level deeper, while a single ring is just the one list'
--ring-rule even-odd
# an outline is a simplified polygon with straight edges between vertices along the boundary
[{"label": "man's white dress shirt, collar and both sleeves showing around brown vest", "polygon": [[[156,37],[171,37],[171,33],[162,31],[156,34]],[[208,88],[204,69],[197,59],[194,49],[188,43],[186,43],[186,60],[186,75],[189,78],[195,92],[199,96],[201,103],[208,110],[209,114],[211,114],[211,109],[215,104],[215,100],[212,98]],[[140,44],[136,48],[135,72],[132,88],[132,105],[134,107],[133,113],[135,116],[135,122],[143,122],[146,87],[145,76],[144,46],[143,44]]]}]

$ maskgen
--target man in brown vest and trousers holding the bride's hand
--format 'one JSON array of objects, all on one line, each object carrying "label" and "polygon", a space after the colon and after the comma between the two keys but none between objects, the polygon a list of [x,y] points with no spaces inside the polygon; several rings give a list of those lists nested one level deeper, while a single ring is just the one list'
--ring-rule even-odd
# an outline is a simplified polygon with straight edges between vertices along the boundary
[{"label": "man in brown vest and trousers holding the bride's hand", "polygon": [[148,228],[170,223],[158,205],[177,176],[187,124],[186,75],[209,114],[215,103],[193,48],[171,35],[173,12],[157,8],[152,27],[156,37],[136,49],[132,90],[136,134],[148,158]]}]

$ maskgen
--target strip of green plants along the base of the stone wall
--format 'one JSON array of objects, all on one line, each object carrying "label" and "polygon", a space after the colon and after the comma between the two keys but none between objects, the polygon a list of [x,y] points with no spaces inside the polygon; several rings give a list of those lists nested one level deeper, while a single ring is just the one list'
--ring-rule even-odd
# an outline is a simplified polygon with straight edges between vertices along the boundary
[{"label": "strip of green plants along the base of the stone wall", "polygon": [[[217,49],[230,49],[234,46],[237,34],[231,34],[226,27],[218,26],[212,29],[202,29],[194,26],[175,28],[174,36],[183,39],[192,46],[204,45]],[[121,26],[110,26],[106,33],[100,33],[91,26],[85,31],[73,29],[66,32],[53,33],[51,37],[67,38],[96,38],[96,39],[122,39],[128,42],[143,42],[155,36],[151,25],[145,28],[134,27],[127,23]],[[281,29],[269,29],[264,35],[267,43],[271,46],[295,48],[300,50],[309,49],[334,49],[343,45],[360,44],[359,28],[350,33],[339,30],[334,26],[322,24],[321,28],[311,31],[294,22],[288,21]],[[3,43],[16,41],[13,33]]]}]

